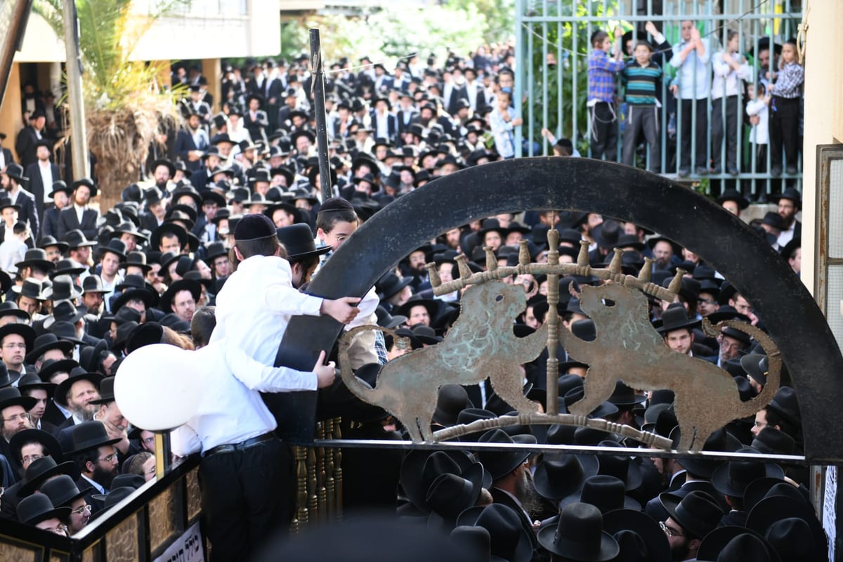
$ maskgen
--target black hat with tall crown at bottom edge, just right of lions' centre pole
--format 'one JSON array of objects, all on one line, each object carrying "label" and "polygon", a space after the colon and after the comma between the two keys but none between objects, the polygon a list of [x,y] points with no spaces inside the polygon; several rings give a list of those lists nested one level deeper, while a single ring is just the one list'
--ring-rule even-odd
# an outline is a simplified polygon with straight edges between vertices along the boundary
[{"label": "black hat with tall crown at bottom edge, just right of lions' centre pole", "polygon": [[620,552],[615,538],[603,528],[603,516],[589,504],[577,502],[562,509],[556,525],[539,531],[539,543],[566,560],[607,562]]}]

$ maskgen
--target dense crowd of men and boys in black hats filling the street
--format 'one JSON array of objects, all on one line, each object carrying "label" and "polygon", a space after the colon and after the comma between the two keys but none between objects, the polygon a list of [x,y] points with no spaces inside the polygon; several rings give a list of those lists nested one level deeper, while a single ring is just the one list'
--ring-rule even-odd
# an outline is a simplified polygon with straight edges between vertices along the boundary
[{"label": "dense crowd of men and boys in black hats filling the street", "polygon": [[[663,40],[655,29],[648,26],[647,31]],[[682,36],[670,62],[680,68],[679,76],[694,57],[707,69],[711,47],[693,24],[687,29],[683,24]],[[615,38],[620,41],[621,35]],[[725,79],[730,72],[745,78],[734,68],[744,61],[729,41],[728,53],[720,57],[727,67]],[[615,65],[609,61],[609,36],[593,38],[592,57],[601,61],[594,67],[625,72],[631,85],[638,83],[637,94],[626,89],[630,103],[652,98],[652,90],[641,84],[655,76],[641,72],[652,67],[645,54],[652,46],[645,42],[634,45],[634,64]],[[788,45],[782,50],[782,68],[792,64],[785,56]],[[770,64],[776,67],[776,62]],[[272,436],[276,423],[259,391],[331,385],[333,392],[320,403],[320,413],[341,413],[344,436],[405,439],[403,428],[387,412],[350,399],[339,381],[332,383],[333,368],[323,365],[324,357],[312,373],[264,369],[274,361],[290,316],[321,313],[347,328],[378,324],[394,330],[385,337],[362,338],[353,350],[357,377],[375,386],[382,365],[437,345],[459,316],[459,292],[435,295],[427,264],[435,264],[439,279],[447,282],[459,276],[459,254],[468,257],[475,271],[486,268],[485,248],[499,264],[516,265],[522,241],[532,260],[546,261],[551,228],[559,231],[563,263],[576,261],[586,241],[594,266],[606,266],[615,249],[622,249],[625,273],[637,275],[650,267],[653,281],[667,286],[678,268],[687,271],[674,302],[650,298],[654,329],[671,350],[722,367],[741,399],[759,393],[766,384],[767,357],[758,342],[737,329],[724,328],[716,338],[700,329],[703,318],[712,323],[737,319],[763,329],[764,318],[755,315],[752,304],[688,249],[631,222],[593,213],[528,210],[487,217],[454,227],[414,250],[362,299],[328,301],[299,292],[362,222],[391,201],[443,175],[513,156],[513,128],[521,121],[512,105],[512,65],[512,45],[481,47],[465,58],[451,54],[442,63],[434,56],[426,62],[411,56],[389,69],[368,58],[355,69],[347,59],[331,65],[326,110],[334,196],[326,201],[319,191],[307,56],[289,64],[266,60],[226,67],[223,99],[218,101],[210,99],[197,68],[175,67],[174,80],[191,90],[180,103],[184,122],[178,131],[163,130],[145,178],[122,190],[121,201],[110,209],[92,205],[99,195],[94,179],[62,180],[51,163],[45,118],[33,104],[32,125],[18,136],[17,159],[3,149],[0,174],[0,289],[5,296],[0,304],[0,468],[5,488],[0,517],[72,536],[154,477],[154,434],[132,427],[123,417],[115,401],[114,376],[133,351],[165,343],[198,350],[196,364],[207,368],[209,380],[215,381],[210,386],[217,398],[185,424],[182,429],[189,435],[174,433],[174,452],[201,452],[203,485],[220,492],[213,498],[203,495],[212,559],[245,558],[289,522],[293,506],[286,487],[292,471],[260,470],[286,467],[290,459]],[[702,99],[685,94],[685,78],[675,85],[682,105]],[[706,99],[710,93],[713,89],[706,90]],[[592,131],[593,141],[603,142],[605,135],[606,144],[593,144],[592,151],[611,159],[612,126],[604,126],[604,117],[614,115],[615,93],[606,94],[609,98],[593,104],[594,122],[601,125]],[[215,107],[221,110],[215,112]],[[642,111],[640,117],[629,112],[628,126],[640,125],[649,141],[652,121]],[[731,106],[726,114],[734,118]],[[557,155],[572,155],[570,141],[552,142]],[[714,163],[731,167],[729,158]],[[788,153],[788,167],[791,158]],[[801,195],[787,189],[774,199],[777,211],[753,226],[798,275]],[[717,202],[736,215],[749,206],[736,190],[723,190]],[[506,281],[523,286],[528,297],[514,326],[524,337],[545,323],[548,279],[519,275]],[[593,340],[595,326],[580,308],[578,295],[582,286],[600,282],[583,276],[560,282],[562,329]],[[228,354],[233,353],[244,356],[231,359]],[[524,393],[537,409],[545,406],[547,356],[545,351],[521,366]],[[559,408],[564,412],[582,398],[588,365],[561,348],[557,356]],[[232,404],[235,396],[250,407]],[[642,392],[619,381],[592,416],[678,443],[673,402],[669,389]],[[439,392],[434,429],[512,410],[488,380],[467,387],[448,384]],[[638,445],[573,426],[508,426],[463,439]],[[799,454],[802,442],[797,397],[786,372],[771,404],[754,418],[721,428],[705,449]],[[260,455],[253,455],[258,449]],[[254,466],[249,474],[240,474],[233,459]],[[346,512],[390,510],[449,533],[455,545],[470,550],[472,559],[826,556],[825,536],[808,501],[808,474],[797,465],[626,454],[536,455],[524,450],[416,450],[404,455],[350,449],[343,453],[342,468]],[[253,474],[260,475],[255,480]],[[243,480],[232,485],[234,479]],[[250,482],[260,486],[249,489]],[[274,487],[265,487],[269,484]],[[257,507],[266,503],[266,497],[259,497],[268,495],[265,490],[277,490],[270,495],[281,499]]]}]

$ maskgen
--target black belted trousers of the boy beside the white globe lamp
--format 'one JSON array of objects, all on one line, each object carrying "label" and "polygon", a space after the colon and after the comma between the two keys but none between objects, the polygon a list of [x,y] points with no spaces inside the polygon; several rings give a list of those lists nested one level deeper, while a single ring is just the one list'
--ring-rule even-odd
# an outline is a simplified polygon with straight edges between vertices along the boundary
[{"label": "black belted trousers of the boy beside the white globe lamp", "polygon": [[211,562],[247,560],[287,533],[295,509],[293,454],[277,439],[202,459],[202,517]]}]

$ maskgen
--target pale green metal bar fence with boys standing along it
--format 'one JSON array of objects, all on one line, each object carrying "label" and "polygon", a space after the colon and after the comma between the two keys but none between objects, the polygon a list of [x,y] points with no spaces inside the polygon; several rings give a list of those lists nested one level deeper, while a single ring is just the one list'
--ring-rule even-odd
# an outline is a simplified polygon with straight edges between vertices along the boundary
[{"label": "pale green metal bar fence with boys standing along it", "polygon": [[[718,6],[722,5],[722,12]],[[696,104],[692,104],[690,130],[683,130],[683,107],[670,85],[676,78],[676,68],[669,62],[674,47],[682,43],[681,22],[694,22],[701,38],[707,42],[709,61],[706,63],[708,88],[704,107],[706,115],[696,115]],[[671,45],[668,49],[656,46],[653,61],[662,67],[663,79],[657,88],[658,142],[660,162],[652,163],[649,147],[642,139],[636,141],[636,160],[641,168],[657,169],[668,176],[679,177],[683,158],[680,139],[691,137],[691,166],[687,179],[708,185],[710,193],[717,195],[721,189],[736,187],[744,195],[758,196],[775,193],[784,187],[801,188],[801,154],[798,162],[785,161],[787,168],[796,166],[795,174],[787,174],[782,165],[781,179],[771,179],[773,160],[769,144],[754,142],[757,125],[749,122],[746,113],[747,94],[754,84],[766,81],[765,68],[759,60],[765,44],[774,45],[772,54],[778,61],[777,51],[781,45],[797,35],[797,25],[802,21],[799,0],[713,0],[684,2],[676,0],[516,0],[516,76],[514,99],[523,100],[522,116],[524,126],[516,131],[516,156],[540,156],[553,153],[553,147],[541,135],[548,129],[556,137],[572,140],[574,148],[582,156],[592,156],[589,147],[589,133],[592,130],[592,116],[588,112],[588,54],[592,47],[589,39],[594,31],[603,29],[612,36],[616,26],[631,31],[622,41],[624,60],[634,59],[626,51],[626,40],[634,47],[636,36],[654,43],[653,36],[644,30],[652,21]],[[711,91],[711,59],[721,56],[729,31],[738,35],[738,52],[749,64],[751,77],[745,88],[738,88],[737,170],[727,166],[727,135],[720,135],[717,146],[712,146],[711,123],[712,94],[717,110],[721,111],[720,122],[727,126],[727,104],[720,104],[718,97],[723,92]],[[640,34],[640,35],[639,35]],[[614,41],[613,41],[614,46]],[[771,57],[772,60],[773,57]],[[773,62],[775,65],[776,62]],[[775,67],[774,67],[775,70]],[[609,157],[622,162],[621,151],[626,128],[627,106],[624,103],[624,88],[620,74],[616,80],[617,148]],[[725,88],[725,86],[724,86]],[[718,95],[719,94],[719,95]],[[687,109],[687,108],[686,108]],[[770,107],[768,112],[772,111]],[[686,116],[686,115],[685,115]],[[706,128],[706,146],[697,146],[694,132],[698,127]],[[799,139],[801,141],[801,120]],[[717,139],[717,135],[714,135]],[[801,142],[799,143],[801,144]],[[643,146],[643,147],[642,147]],[[722,155],[718,169],[711,169],[712,156]],[[687,154],[685,156],[688,156]],[[705,168],[705,174],[696,174],[695,168]],[[683,170],[685,171],[685,170]],[[730,174],[737,171],[738,174]],[[792,171],[792,170],[791,170]],[[685,178],[686,174],[681,174]],[[775,182],[775,183],[774,183]]]}]

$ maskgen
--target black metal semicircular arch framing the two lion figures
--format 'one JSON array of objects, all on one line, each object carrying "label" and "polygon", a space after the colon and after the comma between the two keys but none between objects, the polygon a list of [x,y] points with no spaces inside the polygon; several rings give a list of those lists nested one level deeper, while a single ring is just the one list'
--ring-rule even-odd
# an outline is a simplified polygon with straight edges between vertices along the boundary
[{"label": "black metal semicircular arch framing the two lion figures", "polygon": [[[843,460],[843,432],[828,420],[843,404],[843,356],[823,313],[779,254],[738,217],[656,174],[588,158],[516,158],[460,170],[400,197],[360,227],[314,277],[309,292],[362,296],[398,260],[449,228],[497,213],[567,209],[635,222],[673,239],[722,273],[749,302],[781,351],[803,416],[805,457]],[[340,326],[294,317],[277,365],[309,370]],[[315,393],[267,403],[293,442],[309,441]]]}]

